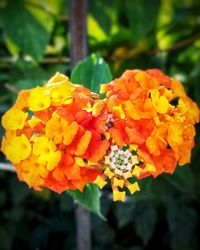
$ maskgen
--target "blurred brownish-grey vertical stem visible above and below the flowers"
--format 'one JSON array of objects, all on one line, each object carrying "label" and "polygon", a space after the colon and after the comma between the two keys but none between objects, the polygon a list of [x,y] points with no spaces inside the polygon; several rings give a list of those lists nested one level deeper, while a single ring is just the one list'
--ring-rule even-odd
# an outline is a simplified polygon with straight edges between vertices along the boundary
[{"label": "blurred brownish-grey vertical stem visible above and below the flowers", "polygon": [[[70,59],[71,69],[87,55],[87,0],[70,2]],[[91,249],[90,213],[80,205],[76,211],[77,250]]]}]

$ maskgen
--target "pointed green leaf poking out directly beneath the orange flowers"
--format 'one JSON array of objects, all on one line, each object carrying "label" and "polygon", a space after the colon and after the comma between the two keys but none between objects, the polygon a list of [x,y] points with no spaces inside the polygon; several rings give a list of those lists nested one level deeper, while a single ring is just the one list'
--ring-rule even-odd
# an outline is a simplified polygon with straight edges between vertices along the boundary
[{"label": "pointed green leaf poking out directly beneath the orange flowers", "polygon": [[79,190],[69,190],[67,193],[70,194],[83,207],[105,220],[104,216],[100,212],[100,191],[95,184],[87,184],[83,192]]}]

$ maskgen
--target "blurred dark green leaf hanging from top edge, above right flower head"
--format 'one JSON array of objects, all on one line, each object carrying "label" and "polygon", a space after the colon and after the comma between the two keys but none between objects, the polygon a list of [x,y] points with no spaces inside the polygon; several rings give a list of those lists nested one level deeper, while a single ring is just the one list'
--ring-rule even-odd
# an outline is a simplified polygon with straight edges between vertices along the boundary
[{"label": "blurred dark green leaf hanging from top edge, above right flower head", "polygon": [[126,0],[125,9],[132,31],[132,42],[147,35],[155,26],[160,7],[160,0]]}]

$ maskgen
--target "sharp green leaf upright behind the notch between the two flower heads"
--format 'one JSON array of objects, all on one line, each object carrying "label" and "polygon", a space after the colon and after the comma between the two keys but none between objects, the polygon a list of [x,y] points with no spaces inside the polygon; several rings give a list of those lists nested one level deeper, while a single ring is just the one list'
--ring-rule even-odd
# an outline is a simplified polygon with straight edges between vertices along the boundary
[{"label": "sharp green leaf upright behind the notch between the two flower heads", "polygon": [[99,93],[100,84],[112,80],[108,64],[99,54],[92,54],[76,65],[71,74],[73,83],[83,84],[91,91]]}]

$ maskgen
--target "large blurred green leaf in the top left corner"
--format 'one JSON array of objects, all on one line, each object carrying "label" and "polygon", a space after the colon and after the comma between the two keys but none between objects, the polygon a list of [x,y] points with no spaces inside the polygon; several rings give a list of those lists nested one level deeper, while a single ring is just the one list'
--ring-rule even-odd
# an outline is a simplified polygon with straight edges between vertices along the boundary
[{"label": "large blurred green leaf in the top left corner", "polygon": [[[40,13],[41,20],[39,20],[38,12],[42,13]],[[48,45],[53,21],[52,17],[44,14],[42,10],[35,11],[36,13],[37,15],[33,15],[20,1],[16,1],[15,4],[8,2],[4,8],[0,9],[0,23],[9,44],[14,44],[19,52],[38,60],[42,58]]]}]

